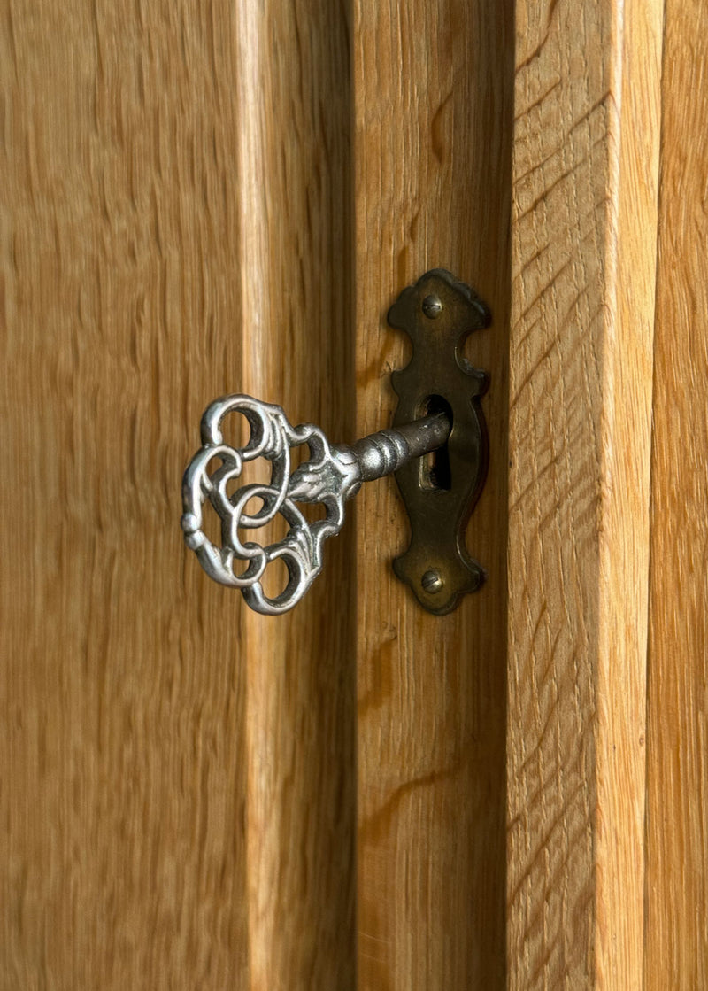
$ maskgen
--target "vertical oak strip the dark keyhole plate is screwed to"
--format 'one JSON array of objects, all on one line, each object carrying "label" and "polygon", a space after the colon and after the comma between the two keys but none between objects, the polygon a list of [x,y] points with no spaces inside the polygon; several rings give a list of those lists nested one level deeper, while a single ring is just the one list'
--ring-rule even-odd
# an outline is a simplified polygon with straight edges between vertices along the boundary
[{"label": "vertical oak strip the dark keyhole plate is screwed to", "polygon": [[484,589],[451,615],[391,571],[407,523],[392,480],[357,496],[358,986],[504,986],[504,709],[511,3],[354,4],[357,432],[390,423],[387,327],[434,267],[473,284],[493,326],[486,489],[467,544]]}]

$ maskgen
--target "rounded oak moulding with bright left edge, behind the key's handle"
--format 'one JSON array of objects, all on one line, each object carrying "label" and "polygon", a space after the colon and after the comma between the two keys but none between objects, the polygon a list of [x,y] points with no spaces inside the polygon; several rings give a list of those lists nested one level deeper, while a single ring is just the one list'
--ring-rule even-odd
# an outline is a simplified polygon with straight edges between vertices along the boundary
[{"label": "rounded oak moulding with bright left edge, behind the key's handle", "polygon": [[[239,4],[246,391],[354,439],[350,13]],[[248,644],[253,989],[354,988],[353,520]]]}]

